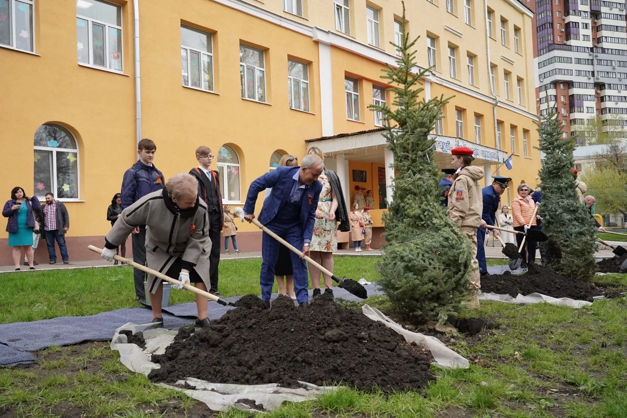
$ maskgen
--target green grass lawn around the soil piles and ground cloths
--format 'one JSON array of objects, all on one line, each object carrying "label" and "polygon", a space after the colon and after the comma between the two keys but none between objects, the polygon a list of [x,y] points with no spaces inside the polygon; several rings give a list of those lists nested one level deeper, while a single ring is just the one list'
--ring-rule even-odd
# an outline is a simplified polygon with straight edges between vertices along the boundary
[{"label": "green grass lawn around the soil piles and ground cloths", "polygon": [[[378,277],[376,262],[371,258],[337,257],[335,270],[339,276],[371,280]],[[258,288],[258,260],[223,263],[224,294]],[[89,314],[105,307],[135,306],[130,269],[65,274],[73,275],[71,280],[61,271],[1,276],[3,294],[13,295],[0,299],[3,321],[31,318],[28,307],[20,307],[31,300],[38,300],[41,309],[36,312],[46,318],[59,312]],[[66,279],[76,286],[70,286]],[[627,286],[627,275],[598,279]],[[103,286],[100,282],[107,283]],[[110,289],[105,290],[107,285]],[[38,289],[38,298],[22,295],[33,287]],[[73,287],[83,291],[73,291]],[[129,295],[121,297],[125,292]],[[192,295],[186,293],[175,293],[174,300],[191,301]],[[108,305],[102,303],[103,295],[109,299]],[[393,314],[386,297],[371,297],[366,303]],[[500,324],[500,328],[477,336],[454,336],[456,341],[448,343],[466,358],[485,363],[472,362],[468,370],[434,367],[438,379],[421,393],[363,394],[342,389],[316,400],[286,403],[263,416],[627,417],[627,299],[596,301],[582,309],[483,302],[482,308],[462,315]],[[238,410],[211,415],[181,392],[155,386],[142,375],[129,372],[119,363],[117,352],[109,350],[108,343],[51,347],[38,357],[36,365],[0,369],[0,416],[52,417],[60,416],[63,409],[86,417],[251,416]]]}]

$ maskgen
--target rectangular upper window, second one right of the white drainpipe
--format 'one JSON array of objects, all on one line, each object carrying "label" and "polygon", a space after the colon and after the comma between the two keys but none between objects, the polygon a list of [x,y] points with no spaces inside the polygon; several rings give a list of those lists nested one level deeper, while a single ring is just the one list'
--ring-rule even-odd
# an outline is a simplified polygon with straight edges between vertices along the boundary
[{"label": "rectangular upper window, second one right of the white drainpipe", "polygon": [[240,43],[240,82],[242,99],[266,102],[265,56],[262,50]]}]

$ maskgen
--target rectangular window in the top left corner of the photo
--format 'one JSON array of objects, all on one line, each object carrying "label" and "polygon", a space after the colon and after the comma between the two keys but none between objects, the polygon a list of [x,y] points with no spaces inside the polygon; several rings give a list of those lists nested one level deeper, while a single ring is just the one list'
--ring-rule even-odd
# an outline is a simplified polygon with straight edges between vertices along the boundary
[{"label": "rectangular window in the top left corner of the photo", "polygon": [[0,45],[34,51],[33,0],[0,0]]}]

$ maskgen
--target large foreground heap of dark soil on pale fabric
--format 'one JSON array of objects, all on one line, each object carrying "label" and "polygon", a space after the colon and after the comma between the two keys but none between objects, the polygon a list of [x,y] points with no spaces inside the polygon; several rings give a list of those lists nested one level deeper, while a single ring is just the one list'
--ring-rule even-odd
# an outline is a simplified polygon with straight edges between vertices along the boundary
[{"label": "large foreground heap of dark soil on pale fabric", "polygon": [[435,379],[428,351],[325,294],[307,308],[279,296],[270,310],[258,297],[244,296],[238,308],[211,325],[192,335],[181,333],[165,354],[152,356],[161,365],[150,372],[154,382],[194,377],[293,388],[300,380],[390,392],[423,388]]}]

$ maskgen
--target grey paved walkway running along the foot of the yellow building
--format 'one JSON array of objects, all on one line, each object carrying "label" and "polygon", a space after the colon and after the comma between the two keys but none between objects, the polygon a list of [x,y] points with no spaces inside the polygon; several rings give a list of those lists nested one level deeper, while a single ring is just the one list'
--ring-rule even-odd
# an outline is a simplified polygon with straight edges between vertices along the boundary
[{"label": "grey paved walkway running along the foot of the yellow building", "polygon": [[[627,243],[624,242],[610,242],[613,245],[623,245],[627,248]],[[381,250],[372,250],[372,251],[364,251],[364,252],[355,252],[354,249],[347,250],[337,250],[337,252],[333,253],[334,255],[340,257],[376,257],[381,255]],[[504,259],[505,256],[501,253],[500,247],[493,247],[492,243],[488,243],[485,247],[485,255],[488,259]],[[598,258],[611,258],[614,256],[611,250],[601,249],[596,252],[596,257]],[[245,260],[245,259],[256,259],[261,257],[261,251],[253,251],[253,252],[245,252],[243,254],[222,254],[221,260]],[[537,253],[537,257],[540,257],[540,254]],[[57,264],[40,264],[36,265],[36,270],[52,270],[52,269],[87,269],[92,267],[121,267],[121,265],[113,265],[112,263],[106,262],[105,260],[85,260],[85,261],[72,261],[70,259],[70,264],[63,264],[63,262],[57,262]],[[25,265],[21,265],[21,271],[28,272],[28,267]],[[3,265],[0,266],[0,273],[6,272],[14,272],[15,267],[13,265]]]}]

